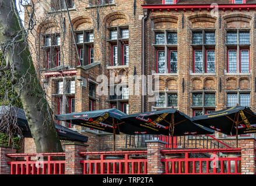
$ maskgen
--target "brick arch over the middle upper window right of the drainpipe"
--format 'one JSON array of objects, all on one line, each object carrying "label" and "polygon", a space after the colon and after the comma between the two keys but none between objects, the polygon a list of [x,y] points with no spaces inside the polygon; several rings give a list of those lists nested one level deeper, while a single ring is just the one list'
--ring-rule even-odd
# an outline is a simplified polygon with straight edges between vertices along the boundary
[{"label": "brick arch over the middle upper window right of the drainpipe", "polygon": [[190,20],[192,28],[215,28],[217,19],[208,14],[197,14],[188,16],[188,20]]}]

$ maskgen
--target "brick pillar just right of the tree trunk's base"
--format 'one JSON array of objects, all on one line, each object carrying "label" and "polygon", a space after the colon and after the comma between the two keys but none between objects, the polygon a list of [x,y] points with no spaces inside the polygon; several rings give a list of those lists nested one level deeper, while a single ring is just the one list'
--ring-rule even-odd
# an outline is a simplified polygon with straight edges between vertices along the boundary
[{"label": "brick pillar just right of the tree trunk's base", "polygon": [[85,152],[89,145],[79,144],[77,142],[65,143],[65,174],[82,174],[83,166],[80,160],[83,157],[78,152]]}]

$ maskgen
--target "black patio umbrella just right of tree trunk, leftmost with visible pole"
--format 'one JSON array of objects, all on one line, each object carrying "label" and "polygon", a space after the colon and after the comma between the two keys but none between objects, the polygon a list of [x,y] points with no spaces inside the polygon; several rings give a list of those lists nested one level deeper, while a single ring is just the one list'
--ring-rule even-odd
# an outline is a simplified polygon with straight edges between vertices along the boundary
[{"label": "black patio umbrella just right of tree trunk, leftmost with visible pole", "polygon": [[120,134],[120,127],[125,123],[120,117],[124,115],[126,114],[117,109],[104,109],[56,115],[55,119],[113,133],[113,151],[115,151],[115,134]]}]

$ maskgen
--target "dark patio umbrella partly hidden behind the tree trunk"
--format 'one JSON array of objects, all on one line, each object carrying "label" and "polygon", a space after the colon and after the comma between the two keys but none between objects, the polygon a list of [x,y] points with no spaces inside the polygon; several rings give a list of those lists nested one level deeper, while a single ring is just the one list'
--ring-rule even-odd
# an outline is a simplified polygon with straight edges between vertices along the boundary
[{"label": "dark patio umbrella partly hidden behind the tree trunk", "polygon": [[[19,109],[15,106],[12,106],[12,108],[9,108],[7,106],[0,106],[0,122],[1,122],[1,117],[8,115],[8,113],[9,113],[9,116],[17,119],[17,125],[22,130],[23,137],[31,138],[32,135],[30,132],[29,124],[27,123],[24,110]],[[76,131],[73,131],[59,124],[55,123],[55,128],[61,140],[79,141],[79,142],[87,142],[88,140],[88,137],[86,137],[85,135],[79,134]]]}]

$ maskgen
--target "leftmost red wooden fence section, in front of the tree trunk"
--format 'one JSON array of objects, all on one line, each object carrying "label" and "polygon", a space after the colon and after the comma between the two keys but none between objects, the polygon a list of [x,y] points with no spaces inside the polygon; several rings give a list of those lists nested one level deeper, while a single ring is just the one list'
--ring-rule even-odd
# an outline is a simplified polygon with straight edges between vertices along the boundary
[{"label": "leftmost red wooden fence section, in front of the tree trunk", "polygon": [[[65,153],[15,153],[6,156],[16,158],[8,162],[10,174],[65,174]],[[52,157],[63,156],[64,160],[52,160]]]}]

